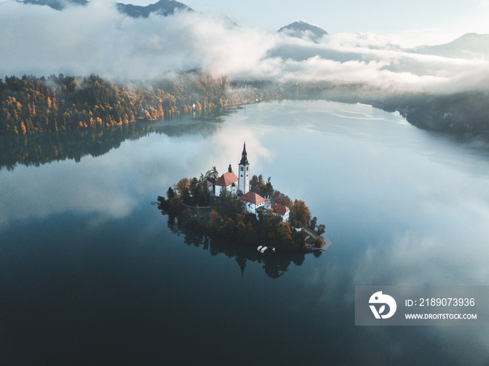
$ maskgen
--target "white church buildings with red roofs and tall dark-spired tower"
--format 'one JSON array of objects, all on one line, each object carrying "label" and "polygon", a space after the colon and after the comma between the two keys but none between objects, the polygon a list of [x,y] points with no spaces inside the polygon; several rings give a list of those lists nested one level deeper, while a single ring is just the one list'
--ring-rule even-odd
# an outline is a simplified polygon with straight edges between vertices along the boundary
[{"label": "white church buildings with red roofs and tall dark-spired tower", "polygon": [[272,210],[272,214],[282,217],[283,222],[289,221],[289,207],[277,203],[272,204],[270,198],[265,199],[258,195],[258,193],[249,190],[249,162],[246,152],[246,142],[243,144],[241,161],[238,165],[238,177],[233,172],[230,163],[228,171],[221,175],[215,183],[207,181],[207,189],[209,189],[210,195],[214,197],[219,197],[223,189],[226,189],[226,191],[234,196],[237,196],[238,192],[242,193],[239,199],[245,202],[247,212],[256,215],[257,219],[259,211],[270,209]]}]

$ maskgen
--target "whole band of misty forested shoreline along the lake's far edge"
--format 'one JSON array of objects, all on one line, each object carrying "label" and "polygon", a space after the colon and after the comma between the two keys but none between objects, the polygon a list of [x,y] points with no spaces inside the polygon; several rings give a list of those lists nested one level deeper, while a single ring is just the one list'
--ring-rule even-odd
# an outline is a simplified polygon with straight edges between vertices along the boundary
[{"label": "whole band of misty forested shoreline along the lake's far edge", "polygon": [[391,94],[363,84],[231,81],[182,71],[173,78],[120,84],[97,75],[6,76],[0,79],[0,135],[122,126],[280,98],[366,103],[398,111],[421,129],[489,133],[489,94],[484,91]]}]

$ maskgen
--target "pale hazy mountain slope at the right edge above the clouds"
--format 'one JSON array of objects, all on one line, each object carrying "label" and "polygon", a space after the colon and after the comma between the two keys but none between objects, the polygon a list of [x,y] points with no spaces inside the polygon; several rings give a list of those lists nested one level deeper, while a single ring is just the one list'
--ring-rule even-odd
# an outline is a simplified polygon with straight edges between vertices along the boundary
[{"label": "pale hazy mountain slope at the right edge above the clouds", "polygon": [[467,33],[443,45],[421,45],[409,52],[460,59],[489,59],[489,34]]}]

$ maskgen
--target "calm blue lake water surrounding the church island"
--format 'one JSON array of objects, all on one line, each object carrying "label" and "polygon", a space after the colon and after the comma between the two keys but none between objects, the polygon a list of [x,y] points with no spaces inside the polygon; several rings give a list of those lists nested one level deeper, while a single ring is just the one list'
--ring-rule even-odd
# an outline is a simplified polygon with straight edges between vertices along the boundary
[{"label": "calm blue lake water surrounding the church island", "polygon": [[[150,202],[236,167],[243,140],[251,174],[305,200],[333,247],[258,256],[170,232]],[[489,285],[486,142],[284,101],[0,145],[1,365],[489,362],[486,327],[353,316],[356,285]]]}]

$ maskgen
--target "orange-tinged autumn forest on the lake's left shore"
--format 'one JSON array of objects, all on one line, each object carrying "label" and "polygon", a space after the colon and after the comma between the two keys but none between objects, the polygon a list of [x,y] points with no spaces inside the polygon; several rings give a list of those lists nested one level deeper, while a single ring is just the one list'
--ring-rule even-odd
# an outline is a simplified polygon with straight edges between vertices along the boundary
[{"label": "orange-tinged autumn forest on the lake's left shore", "polygon": [[198,72],[124,85],[97,75],[6,76],[0,79],[0,135],[120,126],[278,96],[233,89],[227,78]]}]

